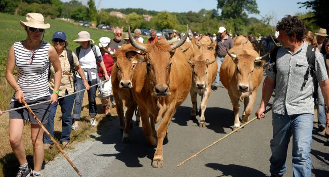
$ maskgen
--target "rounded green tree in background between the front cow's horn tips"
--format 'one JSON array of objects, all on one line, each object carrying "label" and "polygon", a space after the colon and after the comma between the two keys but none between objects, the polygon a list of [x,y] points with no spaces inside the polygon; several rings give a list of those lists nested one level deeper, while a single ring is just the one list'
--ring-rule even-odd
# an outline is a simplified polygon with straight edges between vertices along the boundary
[{"label": "rounded green tree in background between the front cow's horn tips", "polygon": [[175,15],[169,12],[160,12],[151,19],[155,29],[175,29],[179,26]]}]

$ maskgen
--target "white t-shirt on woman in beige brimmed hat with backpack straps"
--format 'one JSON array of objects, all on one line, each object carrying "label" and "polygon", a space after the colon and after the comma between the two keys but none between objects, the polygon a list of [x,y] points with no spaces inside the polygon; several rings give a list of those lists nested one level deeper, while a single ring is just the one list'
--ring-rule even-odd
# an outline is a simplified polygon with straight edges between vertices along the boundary
[{"label": "white t-shirt on woman in beige brimmed hat with backpack straps", "polygon": [[[99,57],[102,57],[102,53],[101,50],[99,49],[98,46],[95,46],[96,48],[96,55]],[[76,53],[76,50],[75,50]],[[86,69],[96,69],[97,70],[97,63],[96,63],[96,58],[95,58],[95,54],[92,50],[91,47],[89,47],[88,49],[80,49],[80,53],[78,54],[78,58],[79,58],[79,63],[81,68],[86,68]],[[97,73],[93,73],[92,72],[92,79],[96,79],[97,78]],[[88,77],[88,73],[85,72],[85,76]],[[76,73],[76,77],[81,78],[80,75],[78,73]]]}]

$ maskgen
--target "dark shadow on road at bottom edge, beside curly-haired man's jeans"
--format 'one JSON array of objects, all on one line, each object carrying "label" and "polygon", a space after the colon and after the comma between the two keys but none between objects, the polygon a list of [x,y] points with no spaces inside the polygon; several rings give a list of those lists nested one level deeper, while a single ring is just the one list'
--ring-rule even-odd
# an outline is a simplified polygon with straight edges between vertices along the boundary
[{"label": "dark shadow on road at bottom edge, beside curly-haired man's jeans", "polygon": [[254,168],[246,167],[246,166],[241,166],[241,165],[234,165],[234,164],[229,164],[229,165],[224,165],[224,164],[219,164],[219,163],[207,163],[205,166],[213,168],[214,170],[221,171],[221,175],[219,176],[244,176],[244,177],[264,177],[268,176],[264,174],[262,171],[259,171]]}]

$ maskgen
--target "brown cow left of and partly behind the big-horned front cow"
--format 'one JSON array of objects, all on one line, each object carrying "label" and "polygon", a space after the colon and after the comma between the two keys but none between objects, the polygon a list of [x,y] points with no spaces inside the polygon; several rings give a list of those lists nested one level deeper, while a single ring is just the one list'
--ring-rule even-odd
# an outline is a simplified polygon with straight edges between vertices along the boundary
[{"label": "brown cow left of and partly behind the big-horned front cow", "polygon": [[[109,52],[107,50],[105,51]],[[119,116],[120,129],[121,132],[123,132],[122,142],[124,143],[129,143],[131,120],[137,108],[137,102],[134,100],[131,92],[131,88],[133,87],[131,79],[138,62],[138,57],[142,56],[135,51],[132,45],[122,45],[113,56],[115,63],[112,69],[112,89],[116,104],[116,112]],[[124,105],[122,100],[125,101],[127,106],[126,121],[124,118]],[[136,122],[138,121],[137,119]]]}]

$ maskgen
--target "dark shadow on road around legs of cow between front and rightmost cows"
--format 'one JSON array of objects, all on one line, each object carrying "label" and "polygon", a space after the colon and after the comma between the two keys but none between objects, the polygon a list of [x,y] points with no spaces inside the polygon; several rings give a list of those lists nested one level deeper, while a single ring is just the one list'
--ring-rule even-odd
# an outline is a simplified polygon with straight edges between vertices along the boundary
[{"label": "dark shadow on road around legs of cow between front and rightmost cows", "polygon": [[[187,122],[191,119],[191,107],[180,106],[174,115],[172,122],[181,126],[187,126]],[[212,129],[217,133],[226,134],[224,128],[231,128],[234,124],[234,114],[232,110],[225,108],[212,107],[205,109],[205,123],[208,129]],[[200,117],[196,116],[193,123],[199,125]]]}]

